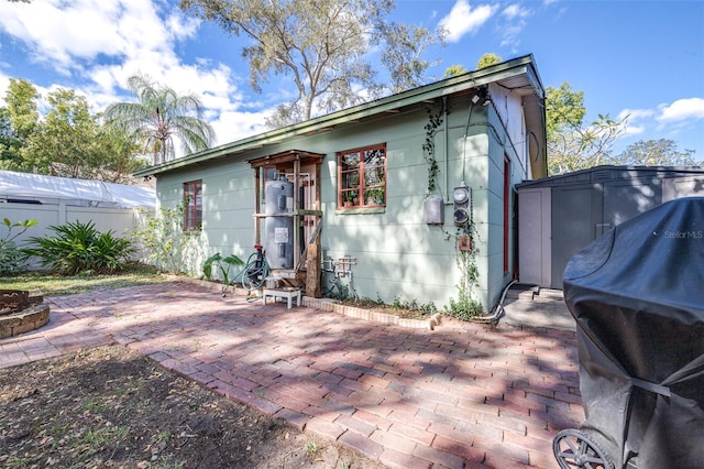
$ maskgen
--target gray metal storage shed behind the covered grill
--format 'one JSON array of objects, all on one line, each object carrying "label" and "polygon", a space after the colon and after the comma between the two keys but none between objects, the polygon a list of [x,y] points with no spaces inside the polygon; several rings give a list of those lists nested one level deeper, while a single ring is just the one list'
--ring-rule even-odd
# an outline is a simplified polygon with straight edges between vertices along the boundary
[{"label": "gray metal storage shed behind the covered grill", "polygon": [[561,290],[573,253],[662,203],[703,196],[704,170],[596,166],[529,181],[516,189],[519,280]]}]

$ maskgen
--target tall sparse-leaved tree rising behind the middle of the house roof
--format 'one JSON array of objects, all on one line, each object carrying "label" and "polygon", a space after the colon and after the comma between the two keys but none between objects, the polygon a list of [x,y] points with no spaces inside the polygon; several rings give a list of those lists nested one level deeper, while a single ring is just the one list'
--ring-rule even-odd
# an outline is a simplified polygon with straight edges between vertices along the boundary
[{"label": "tall sparse-leaved tree rising behind the middle of the house roof", "polygon": [[[261,91],[271,75],[292,77],[298,96],[280,105],[268,120],[280,127],[310,119],[422,83],[431,62],[421,58],[443,32],[387,22],[393,0],[182,0],[180,7],[222,30],[252,40],[242,51],[250,64],[250,85]],[[373,45],[391,86],[376,83],[367,61]]]}]

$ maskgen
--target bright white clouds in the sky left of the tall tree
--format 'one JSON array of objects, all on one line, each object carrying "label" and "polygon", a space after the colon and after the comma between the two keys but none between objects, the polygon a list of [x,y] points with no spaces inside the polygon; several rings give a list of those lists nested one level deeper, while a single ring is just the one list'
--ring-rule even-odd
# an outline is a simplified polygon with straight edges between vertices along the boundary
[{"label": "bright white clouds in the sky left of the tall tree", "polygon": [[[73,88],[86,95],[94,111],[101,111],[111,102],[133,99],[123,87],[130,76],[142,73],[179,94],[199,96],[218,144],[265,130],[264,117],[271,110],[263,109],[261,101],[246,100],[230,67],[209,58],[179,56],[177,51],[196,37],[200,22],[185,17],[175,2],[0,2],[0,32],[20,44],[14,47],[31,57],[34,67],[47,70],[47,77],[64,76],[62,84],[33,80],[44,98],[58,87]],[[9,84],[4,74],[13,72],[12,59],[3,62],[0,99]]]}]

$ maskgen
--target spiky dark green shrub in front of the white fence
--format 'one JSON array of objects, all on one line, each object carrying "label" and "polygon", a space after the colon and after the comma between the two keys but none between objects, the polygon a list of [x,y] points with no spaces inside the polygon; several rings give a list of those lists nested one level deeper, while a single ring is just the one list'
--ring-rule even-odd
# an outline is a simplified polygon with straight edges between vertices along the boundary
[{"label": "spiky dark green shrub in front of the white fence", "polygon": [[30,246],[22,252],[40,258],[42,265],[64,275],[114,273],[124,269],[129,255],[135,251],[132,241],[116,237],[112,230],[101,233],[92,221],[48,229],[56,236],[30,238]]}]

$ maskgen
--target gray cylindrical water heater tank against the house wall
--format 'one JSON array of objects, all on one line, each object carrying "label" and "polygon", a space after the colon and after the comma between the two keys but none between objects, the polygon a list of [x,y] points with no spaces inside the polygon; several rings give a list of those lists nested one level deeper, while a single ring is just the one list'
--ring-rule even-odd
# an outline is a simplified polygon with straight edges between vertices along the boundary
[{"label": "gray cylindrical water heater tank against the house wall", "polygon": [[267,217],[264,222],[264,248],[272,269],[294,268],[294,183],[268,181],[264,187]]}]

